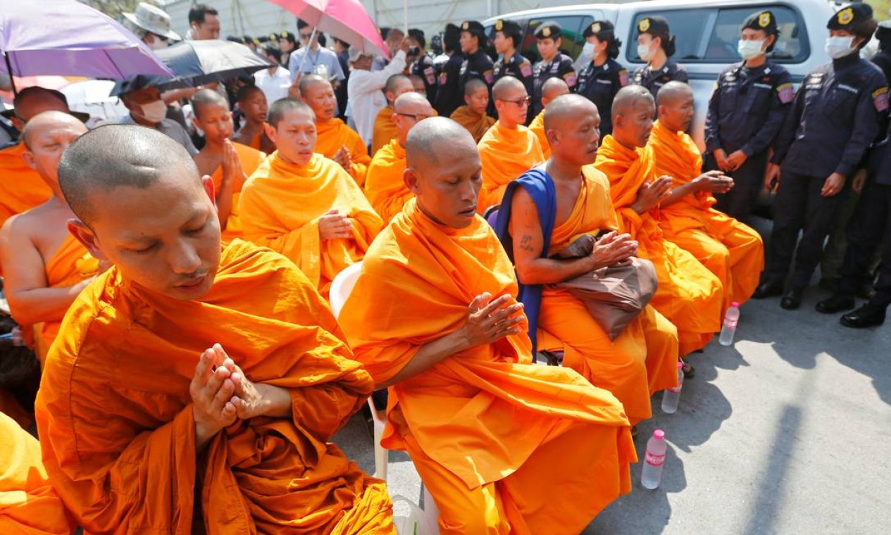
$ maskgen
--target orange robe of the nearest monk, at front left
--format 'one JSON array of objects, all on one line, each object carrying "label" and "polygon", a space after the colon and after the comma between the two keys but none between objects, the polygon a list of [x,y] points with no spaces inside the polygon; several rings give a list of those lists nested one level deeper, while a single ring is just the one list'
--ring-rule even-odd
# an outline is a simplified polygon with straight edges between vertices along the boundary
[{"label": "orange robe of the nearest monk, at front left", "polygon": [[[372,379],[282,255],[234,240],[195,301],[111,268],[61,333],[37,428],[46,471],[86,532],[395,533],[383,482],[328,442]],[[189,385],[214,343],[250,381],[287,388],[293,417],[236,420],[196,456]]]}]

